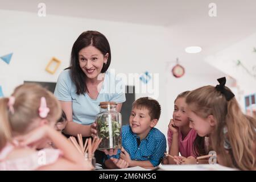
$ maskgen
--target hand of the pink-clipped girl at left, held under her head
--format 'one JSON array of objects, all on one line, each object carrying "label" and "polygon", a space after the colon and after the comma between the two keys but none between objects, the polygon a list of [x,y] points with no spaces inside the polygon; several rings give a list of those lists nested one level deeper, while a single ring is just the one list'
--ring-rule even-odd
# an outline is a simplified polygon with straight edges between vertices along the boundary
[{"label": "hand of the pink-clipped girl at left, held under her head", "polygon": [[35,130],[32,130],[30,133],[16,137],[15,140],[18,140],[19,146],[30,146],[36,148],[40,144],[46,142],[48,140],[48,132],[52,130],[53,132],[57,132],[54,129],[51,129],[49,126],[44,125],[38,127]]}]

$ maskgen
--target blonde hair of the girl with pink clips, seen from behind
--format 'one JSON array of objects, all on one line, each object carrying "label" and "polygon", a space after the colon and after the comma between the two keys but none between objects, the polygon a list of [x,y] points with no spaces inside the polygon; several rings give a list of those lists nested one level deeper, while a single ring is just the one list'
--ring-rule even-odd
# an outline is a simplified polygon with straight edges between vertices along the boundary
[{"label": "blonde hair of the girl with pink clips, seen from behind", "polygon": [[10,100],[12,104],[9,98],[0,99],[0,150],[7,142],[11,142],[11,137],[26,134],[36,127],[35,119],[42,118],[39,115],[42,97],[46,99],[49,109],[45,119],[57,122],[61,116],[59,101],[40,85],[20,85],[15,88],[12,96],[15,100]]}]

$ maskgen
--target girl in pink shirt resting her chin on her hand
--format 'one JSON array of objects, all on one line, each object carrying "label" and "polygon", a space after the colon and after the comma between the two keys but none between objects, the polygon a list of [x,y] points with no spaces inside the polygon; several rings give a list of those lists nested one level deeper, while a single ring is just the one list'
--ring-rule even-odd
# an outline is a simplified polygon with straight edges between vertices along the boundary
[{"label": "girl in pink shirt resting her chin on her hand", "polygon": [[[175,156],[175,159],[168,157],[169,164],[193,164],[196,163],[197,156],[205,155],[204,137],[199,137],[196,131],[189,127],[185,102],[188,94],[189,91],[183,92],[175,99],[173,119],[168,125],[167,134],[168,153]],[[179,152],[181,156],[177,157]]]}]

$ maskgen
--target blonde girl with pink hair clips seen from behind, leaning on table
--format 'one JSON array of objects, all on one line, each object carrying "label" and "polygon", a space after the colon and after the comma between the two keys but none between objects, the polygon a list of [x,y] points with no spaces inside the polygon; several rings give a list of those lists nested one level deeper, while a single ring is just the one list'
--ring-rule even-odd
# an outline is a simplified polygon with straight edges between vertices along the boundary
[{"label": "blonde girl with pink hair clips seen from behind, leaning on table", "polygon": [[[20,85],[11,97],[1,98],[0,171],[92,169],[92,164],[54,129],[60,115],[59,101],[36,84]],[[49,140],[57,149],[35,150]]]}]

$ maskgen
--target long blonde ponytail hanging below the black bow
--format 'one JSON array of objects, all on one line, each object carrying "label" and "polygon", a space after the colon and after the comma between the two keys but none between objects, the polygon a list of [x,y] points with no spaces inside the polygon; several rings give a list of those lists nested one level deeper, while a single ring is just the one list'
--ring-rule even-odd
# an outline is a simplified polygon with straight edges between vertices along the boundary
[{"label": "long blonde ponytail hanging below the black bow", "polygon": [[255,119],[250,122],[242,113],[235,98],[228,102],[228,113],[226,114],[227,137],[232,148],[231,158],[234,166],[242,170],[255,169]]}]

